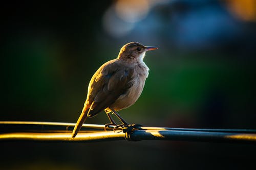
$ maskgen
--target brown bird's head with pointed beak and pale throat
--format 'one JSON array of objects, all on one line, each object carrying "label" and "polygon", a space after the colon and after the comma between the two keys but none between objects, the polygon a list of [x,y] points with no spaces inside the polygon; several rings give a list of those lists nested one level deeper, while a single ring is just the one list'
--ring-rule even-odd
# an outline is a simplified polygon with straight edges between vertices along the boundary
[{"label": "brown bird's head with pointed beak and pale throat", "polygon": [[147,51],[157,49],[154,46],[144,46],[138,42],[129,42],[122,46],[117,58],[125,61],[142,61]]}]

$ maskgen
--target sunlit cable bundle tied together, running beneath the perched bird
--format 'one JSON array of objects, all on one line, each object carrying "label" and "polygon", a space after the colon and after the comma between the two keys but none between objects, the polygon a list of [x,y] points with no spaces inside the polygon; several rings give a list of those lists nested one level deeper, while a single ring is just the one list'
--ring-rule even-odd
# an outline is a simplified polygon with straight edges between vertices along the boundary
[{"label": "sunlit cable bundle tied together, running beneath the perched bird", "polygon": [[73,123],[0,122],[0,141],[94,142],[110,140],[181,140],[207,142],[256,143],[252,129],[186,129],[165,127],[129,127],[113,132],[104,125],[84,124],[75,138]]}]

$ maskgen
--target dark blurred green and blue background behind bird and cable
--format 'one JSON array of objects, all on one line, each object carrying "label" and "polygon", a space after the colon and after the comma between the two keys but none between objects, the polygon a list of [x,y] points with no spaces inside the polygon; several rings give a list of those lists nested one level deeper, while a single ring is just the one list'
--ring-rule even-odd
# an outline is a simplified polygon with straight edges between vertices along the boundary
[{"label": "dark blurred green and blue background behind bird and cable", "polygon": [[[75,123],[89,81],[120,47],[159,50],[129,123],[256,128],[256,1],[117,0],[1,5],[0,120]],[[87,119],[105,124],[105,113]],[[252,144],[189,141],[2,142],[0,169],[239,169]]]}]

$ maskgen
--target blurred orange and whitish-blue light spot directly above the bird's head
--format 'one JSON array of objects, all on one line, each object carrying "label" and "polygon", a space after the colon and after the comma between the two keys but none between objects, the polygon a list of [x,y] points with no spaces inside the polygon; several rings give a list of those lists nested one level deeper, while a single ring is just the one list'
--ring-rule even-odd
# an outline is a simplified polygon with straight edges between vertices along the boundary
[{"label": "blurred orange and whitish-blue light spot directly above the bird's head", "polygon": [[169,0],[118,0],[114,2],[103,16],[103,27],[113,37],[129,35],[136,23],[148,17],[150,11],[157,5],[168,4]]}]

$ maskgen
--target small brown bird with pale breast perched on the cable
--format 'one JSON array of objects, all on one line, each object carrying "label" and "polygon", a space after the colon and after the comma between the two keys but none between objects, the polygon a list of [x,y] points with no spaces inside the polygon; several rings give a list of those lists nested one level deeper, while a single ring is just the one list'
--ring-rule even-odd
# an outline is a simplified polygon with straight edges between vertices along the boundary
[{"label": "small brown bird with pale breast perched on the cable", "polygon": [[[110,124],[117,127],[129,125],[117,111],[130,107],[139,98],[149,68],[143,62],[147,51],[156,50],[154,46],[144,46],[138,42],[130,42],[121,48],[117,59],[104,63],[93,75],[84,103],[82,113],[77,120],[72,137],[81,129],[87,117],[93,117],[104,110]],[[110,113],[113,112],[121,125],[117,125]]]}]

